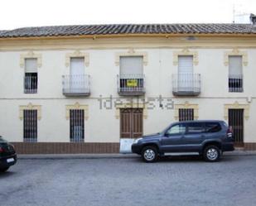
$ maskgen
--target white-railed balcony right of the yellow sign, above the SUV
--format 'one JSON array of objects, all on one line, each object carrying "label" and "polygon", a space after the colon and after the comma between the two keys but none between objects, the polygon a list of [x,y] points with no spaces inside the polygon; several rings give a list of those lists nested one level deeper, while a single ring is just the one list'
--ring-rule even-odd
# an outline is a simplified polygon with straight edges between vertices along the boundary
[{"label": "white-railed balcony right of the yellow sign, above the SUV", "polygon": [[173,74],[172,93],[176,96],[200,94],[200,74]]}]

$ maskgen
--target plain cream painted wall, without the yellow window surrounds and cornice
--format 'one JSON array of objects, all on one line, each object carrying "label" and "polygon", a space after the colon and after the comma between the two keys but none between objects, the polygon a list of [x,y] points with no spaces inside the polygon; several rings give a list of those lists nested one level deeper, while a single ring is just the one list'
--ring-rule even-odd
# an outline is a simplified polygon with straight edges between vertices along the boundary
[{"label": "plain cream painted wall, without the yellow window surrounds and cornice", "polygon": [[[228,92],[228,67],[224,65],[224,53],[227,49],[191,49],[198,52],[199,64],[194,72],[201,74],[201,93],[195,98],[176,98],[171,93],[171,74],[177,72],[173,65],[173,52],[180,49],[147,48],[136,49],[136,52],[147,52],[147,65],[144,66],[146,76],[146,98],[159,95],[173,98],[174,103],[197,103],[200,119],[224,119],[225,103],[250,104],[249,120],[244,120],[244,141],[256,142],[253,128],[256,124],[256,49],[241,49],[248,53],[248,66],[244,66],[244,93]],[[230,48],[230,50],[232,50]],[[75,50],[35,50],[41,54],[42,65],[38,69],[38,93],[23,93],[24,69],[20,67],[22,51],[0,51],[0,127],[1,135],[9,141],[22,141],[22,120],[19,119],[19,105],[32,103],[41,105],[41,120],[38,121],[38,141],[68,142],[69,120],[65,118],[65,105],[89,105],[89,118],[85,120],[86,142],[118,142],[119,119],[115,117],[115,109],[99,109],[99,96],[104,98],[113,95],[118,98],[115,55],[128,52],[128,49],[90,49],[80,50],[89,53],[89,66],[85,74],[90,75],[91,95],[88,98],[66,98],[62,94],[61,75],[69,74],[70,68],[65,66],[65,55]],[[156,108],[147,110],[147,119],[143,120],[144,134],[159,132],[173,121],[174,110]]]}]

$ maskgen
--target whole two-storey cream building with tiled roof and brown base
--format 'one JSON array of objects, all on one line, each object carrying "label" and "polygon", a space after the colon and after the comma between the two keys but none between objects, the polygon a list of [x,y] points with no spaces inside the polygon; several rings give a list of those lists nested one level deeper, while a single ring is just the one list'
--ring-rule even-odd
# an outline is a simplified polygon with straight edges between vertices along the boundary
[{"label": "whole two-storey cream building with tiled roof and brown base", "polygon": [[224,119],[256,149],[255,66],[253,24],[0,31],[0,133],[20,153],[106,153],[174,121]]}]

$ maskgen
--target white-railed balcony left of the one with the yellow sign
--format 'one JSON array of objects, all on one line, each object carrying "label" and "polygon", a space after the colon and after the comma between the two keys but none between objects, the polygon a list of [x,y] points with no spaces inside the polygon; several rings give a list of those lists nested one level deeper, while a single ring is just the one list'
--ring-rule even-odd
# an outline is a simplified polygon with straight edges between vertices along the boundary
[{"label": "white-railed balcony left of the one with the yellow sign", "polygon": [[89,96],[89,75],[62,76],[62,92],[67,97]]}]

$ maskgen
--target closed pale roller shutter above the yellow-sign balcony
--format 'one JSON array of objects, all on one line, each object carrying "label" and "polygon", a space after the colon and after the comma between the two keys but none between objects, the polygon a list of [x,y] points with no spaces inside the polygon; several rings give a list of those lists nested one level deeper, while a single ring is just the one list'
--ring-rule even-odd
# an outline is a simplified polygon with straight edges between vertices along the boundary
[{"label": "closed pale roller shutter above the yellow-sign balcony", "polygon": [[143,57],[121,56],[120,74],[143,74]]}]

